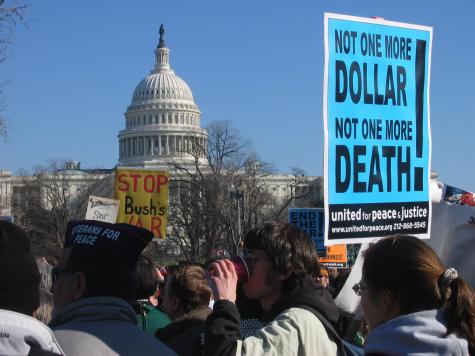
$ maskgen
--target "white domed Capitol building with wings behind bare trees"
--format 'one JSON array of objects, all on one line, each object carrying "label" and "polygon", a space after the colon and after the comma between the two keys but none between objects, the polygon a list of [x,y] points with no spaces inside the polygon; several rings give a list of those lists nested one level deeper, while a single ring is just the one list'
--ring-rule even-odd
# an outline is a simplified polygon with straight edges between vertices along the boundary
[{"label": "white domed Capitol building with wings behind bare trees", "polygon": [[[163,25],[155,49],[155,65],[140,81],[125,112],[125,128],[118,134],[117,166],[145,167],[169,170],[173,167],[193,167],[197,152],[206,164],[208,134],[201,127],[201,111],[193,99],[188,84],[170,66],[170,50],[165,44]],[[20,196],[22,180],[0,167],[0,218],[15,218],[15,197]],[[84,182],[102,179],[113,169],[81,169],[80,163],[67,162],[60,173],[80,187]],[[23,178],[24,179],[24,178]],[[266,189],[282,200],[290,197],[293,175],[272,175],[266,178]],[[321,177],[303,177],[297,192],[322,196]],[[79,189],[78,189],[79,191]],[[18,203],[17,203],[18,205]],[[13,208],[12,208],[13,207]]]}]

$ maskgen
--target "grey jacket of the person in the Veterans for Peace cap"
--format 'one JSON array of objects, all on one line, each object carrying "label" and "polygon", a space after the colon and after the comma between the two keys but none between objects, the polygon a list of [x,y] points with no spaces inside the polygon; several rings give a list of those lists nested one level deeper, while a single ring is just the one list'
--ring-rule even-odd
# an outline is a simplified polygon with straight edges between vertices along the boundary
[{"label": "grey jacket of the person in the Veterans for Peace cap", "polygon": [[78,299],[55,311],[50,326],[68,356],[175,355],[136,325],[132,307],[114,297]]}]

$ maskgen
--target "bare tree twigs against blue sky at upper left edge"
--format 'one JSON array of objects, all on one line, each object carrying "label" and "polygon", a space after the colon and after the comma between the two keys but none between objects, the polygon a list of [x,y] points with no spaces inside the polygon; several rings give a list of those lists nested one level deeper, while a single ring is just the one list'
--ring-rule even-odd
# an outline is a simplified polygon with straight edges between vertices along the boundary
[{"label": "bare tree twigs against blue sky at upper left edge", "polygon": [[[25,0],[0,0],[0,64],[9,57],[9,45],[13,41],[13,28],[19,23],[25,23],[25,13],[28,5]],[[5,110],[5,86],[8,81],[0,79],[0,113]],[[0,136],[7,137],[7,122],[0,115]]]}]

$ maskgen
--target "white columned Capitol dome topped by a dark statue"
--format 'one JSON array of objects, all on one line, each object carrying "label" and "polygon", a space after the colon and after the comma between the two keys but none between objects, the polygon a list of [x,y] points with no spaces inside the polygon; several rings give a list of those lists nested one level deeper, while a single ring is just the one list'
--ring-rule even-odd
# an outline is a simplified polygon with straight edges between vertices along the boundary
[{"label": "white columned Capitol dome topped by a dark statue", "polygon": [[206,153],[201,112],[188,84],[170,67],[164,32],[162,25],[155,67],[137,85],[125,112],[125,129],[118,135],[122,166],[170,169],[194,164]]}]

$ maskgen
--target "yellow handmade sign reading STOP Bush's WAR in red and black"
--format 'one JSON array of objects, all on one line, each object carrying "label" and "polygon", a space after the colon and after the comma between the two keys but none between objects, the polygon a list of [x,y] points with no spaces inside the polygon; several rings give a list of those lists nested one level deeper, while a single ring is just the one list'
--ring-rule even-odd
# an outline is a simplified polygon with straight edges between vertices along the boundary
[{"label": "yellow handmade sign reading STOP Bush's WAR in red and black", "polygon": [[117,222],[143,227],[165,238],[168,217],[166,171],[117,168],[115,197],[120,201]]}]

